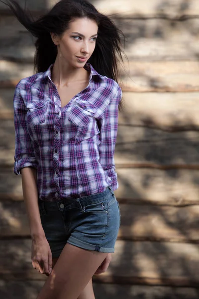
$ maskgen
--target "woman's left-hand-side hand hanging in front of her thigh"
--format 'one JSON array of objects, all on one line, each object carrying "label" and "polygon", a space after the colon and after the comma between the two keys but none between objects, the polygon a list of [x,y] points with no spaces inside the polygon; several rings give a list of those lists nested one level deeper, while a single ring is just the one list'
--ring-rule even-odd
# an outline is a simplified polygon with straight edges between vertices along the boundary
[{"label": "woman's left-hand-side hand hanging in front of her thigh", "polygon": [[52,271],[52,253],[45,237],[32,240],[32,266],[38,272],[49,276]]}]

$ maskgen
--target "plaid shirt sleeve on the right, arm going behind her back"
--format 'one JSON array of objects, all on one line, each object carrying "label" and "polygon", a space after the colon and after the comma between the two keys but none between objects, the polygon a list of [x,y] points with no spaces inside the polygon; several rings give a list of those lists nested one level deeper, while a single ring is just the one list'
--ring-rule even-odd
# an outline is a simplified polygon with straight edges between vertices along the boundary
[{"label": "plaid shirt sleeve on the right, arm going behind her back", "polygon": [[122,98],[121,88],[118,86],[116,95],[101,114],[99,121],[100,129],[100,164],[105,173],[111,178],[111,189],[118,188],[117,173],[115,171],[114,150],[118,128],[118,105]]}]

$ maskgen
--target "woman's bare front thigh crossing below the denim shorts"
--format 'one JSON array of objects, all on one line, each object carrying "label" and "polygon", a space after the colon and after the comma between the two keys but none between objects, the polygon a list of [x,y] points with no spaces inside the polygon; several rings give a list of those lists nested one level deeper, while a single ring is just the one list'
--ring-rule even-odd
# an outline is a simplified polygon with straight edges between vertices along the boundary
[{"label": "woman's bare front thigh crossing below the denim shorts", "polygon": [[106,256],[67,243],[37,299],[77,299]]}]

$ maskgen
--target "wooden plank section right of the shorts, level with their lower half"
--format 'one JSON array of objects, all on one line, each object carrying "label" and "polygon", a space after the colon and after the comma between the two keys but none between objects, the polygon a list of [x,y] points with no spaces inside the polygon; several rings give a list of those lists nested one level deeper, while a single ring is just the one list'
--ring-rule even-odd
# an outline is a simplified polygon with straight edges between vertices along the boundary
[{"label": "wooden plank section right of the shorts, level with their lower half", "polygon": [[120,204],[120,240],[199,243],[199,205]]}]

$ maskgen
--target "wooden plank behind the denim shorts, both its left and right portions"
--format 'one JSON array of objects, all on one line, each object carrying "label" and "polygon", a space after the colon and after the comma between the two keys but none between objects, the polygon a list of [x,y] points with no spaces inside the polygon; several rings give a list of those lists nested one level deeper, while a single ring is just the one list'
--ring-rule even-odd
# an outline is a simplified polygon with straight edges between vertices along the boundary
[{"label": "wooden plank behind the denim shorts, both its left and right portions", "polygon": [[[199,205],[120,204],[119,240],[199,243]],[[0,202],[0,239],[29,237],[24,201]]]}]

